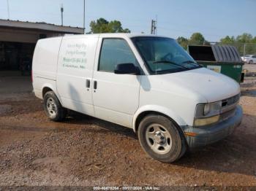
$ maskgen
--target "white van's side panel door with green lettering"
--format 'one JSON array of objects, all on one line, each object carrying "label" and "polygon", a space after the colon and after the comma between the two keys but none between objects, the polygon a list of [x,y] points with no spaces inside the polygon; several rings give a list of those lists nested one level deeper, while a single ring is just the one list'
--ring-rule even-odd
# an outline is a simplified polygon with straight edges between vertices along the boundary
[{"label": "white van's side panel door with green lettering", "polygon": [[98,36],[65,36],[59,50],[57,90],[62,104],[94,116],[91,87]]}]

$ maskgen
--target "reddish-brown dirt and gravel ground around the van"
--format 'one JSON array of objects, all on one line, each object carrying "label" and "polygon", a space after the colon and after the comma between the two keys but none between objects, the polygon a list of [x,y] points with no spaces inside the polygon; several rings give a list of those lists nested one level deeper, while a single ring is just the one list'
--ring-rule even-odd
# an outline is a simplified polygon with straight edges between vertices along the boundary
[{"label": "reddish-brown dirt and gravel ground around the van", "polygon": [[128,128],[75,113],[50,122],[28,83],[10,88],[23,82],[0,77],[0,186],[256,186],[253,77],[241,85],[244,119],[233,136],[173,164],[148,157]]}]

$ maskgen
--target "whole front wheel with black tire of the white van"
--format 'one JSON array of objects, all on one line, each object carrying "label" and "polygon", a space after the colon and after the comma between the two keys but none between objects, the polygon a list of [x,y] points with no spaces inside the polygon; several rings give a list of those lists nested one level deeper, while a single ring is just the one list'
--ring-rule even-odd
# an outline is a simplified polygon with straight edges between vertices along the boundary
[{"label": "whole front wheel with black tire of the white van", "polygon": [[181,130],[167,117],[157,114],[143,118],[138,128],[138,139],[150,157],[163,163],[173,163],[187,150]]}]

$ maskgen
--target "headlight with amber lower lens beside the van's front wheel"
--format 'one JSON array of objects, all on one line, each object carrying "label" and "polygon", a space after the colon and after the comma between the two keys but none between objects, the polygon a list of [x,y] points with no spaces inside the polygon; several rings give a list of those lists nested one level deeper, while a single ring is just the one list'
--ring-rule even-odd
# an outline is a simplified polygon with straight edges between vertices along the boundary
[{"label": "headlight with amber lower lens beside the van's front wheel", "polygon": [[210,104],[197,104],[195,111],[195,126],[209,125],[219,120],[222,110],[222,101]]}]

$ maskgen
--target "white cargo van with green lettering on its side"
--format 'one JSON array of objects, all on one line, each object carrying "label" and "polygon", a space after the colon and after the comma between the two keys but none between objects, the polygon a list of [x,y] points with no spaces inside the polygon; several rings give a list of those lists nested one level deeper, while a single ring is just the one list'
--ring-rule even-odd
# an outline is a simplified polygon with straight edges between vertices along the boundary
[{"label": "white cargo van with green lettering on its side", "polygon": [[237,82],[162,36],[41,39],[32,77],[50,120],[64,120],[71,109],[132,128],[148,155],[165,163],[224,139],[243,115]]}]

